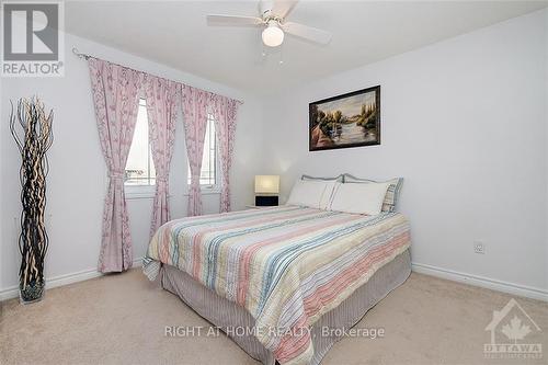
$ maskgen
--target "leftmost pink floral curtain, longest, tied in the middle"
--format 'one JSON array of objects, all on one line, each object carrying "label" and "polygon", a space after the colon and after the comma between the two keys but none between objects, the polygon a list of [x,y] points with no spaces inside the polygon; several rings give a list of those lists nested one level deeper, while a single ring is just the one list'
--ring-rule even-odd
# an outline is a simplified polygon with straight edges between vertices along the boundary
[{"label": "leftmost pink floral curtain, longest, tied in the middle", "polygon": [[122,272],[133,263],[124,173],[137,121],[142,75],[95,58],[90,58],[88,65],[101,149],[109,169],[99,271]]}]

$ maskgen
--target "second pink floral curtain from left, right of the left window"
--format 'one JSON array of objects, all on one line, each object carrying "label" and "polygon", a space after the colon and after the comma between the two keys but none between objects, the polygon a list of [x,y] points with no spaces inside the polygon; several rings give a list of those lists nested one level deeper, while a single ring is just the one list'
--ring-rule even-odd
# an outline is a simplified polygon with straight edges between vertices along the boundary
[{"label": "second pink floral curtain from left, right of the left window", "polygon": [[162,78],[147,76],[145,94],[149,123],[149,140],[156,168],[156,195],[152,205],[150,237],[170,220],[169,174],[173,142],[175,139],[176,83]]}]

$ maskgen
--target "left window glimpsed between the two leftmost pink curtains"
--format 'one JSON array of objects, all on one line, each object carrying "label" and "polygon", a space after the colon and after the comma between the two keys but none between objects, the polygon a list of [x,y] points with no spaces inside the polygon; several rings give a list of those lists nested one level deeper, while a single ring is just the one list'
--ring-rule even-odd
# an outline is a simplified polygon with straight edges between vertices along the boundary
[{"label": "left window glimpsed between the two leftmost pink curtains", "polygon": [[148,140],[148,116],[145,99],[139,100],[134,139],[127,157],[125,184],[129,186],[150,186],[156,184],[156,170],[152,151]]}]

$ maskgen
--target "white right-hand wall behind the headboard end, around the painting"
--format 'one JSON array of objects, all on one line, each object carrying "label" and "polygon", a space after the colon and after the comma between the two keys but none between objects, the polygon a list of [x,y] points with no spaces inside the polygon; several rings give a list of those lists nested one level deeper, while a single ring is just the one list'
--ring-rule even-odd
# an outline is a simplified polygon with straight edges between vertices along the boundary
[{"label": "white right-hand wall behind the headboard end, around the painting", "polygon": [[[546,50],[540,11],[273,98],[266,172],[403,176],[413,262],[546,290]],[[380,146],[308,151],[309,102],[377,84]]]}]

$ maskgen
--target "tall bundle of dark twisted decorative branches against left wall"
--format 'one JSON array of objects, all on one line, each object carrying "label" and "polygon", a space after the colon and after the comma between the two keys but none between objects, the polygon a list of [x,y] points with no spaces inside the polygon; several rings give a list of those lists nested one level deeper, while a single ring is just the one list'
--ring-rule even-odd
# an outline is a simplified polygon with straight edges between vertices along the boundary
[{"label": "tall bundle of dark twisted decorative branches against left wall", "polygon": [[53,142],[53,111],[46,113],[37,99],[20,99],[16,110],[12,104],[10,129],[21,152],[20,180],[22,185],[21,233],[19,249],[20,300],[38,301],[45,292],[44,259],[48,237],[44,223],[46,207],[46,176],[49,170],[46,152]]}]

